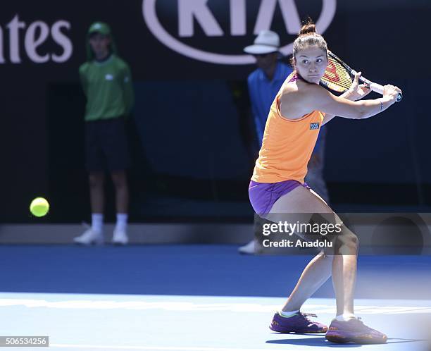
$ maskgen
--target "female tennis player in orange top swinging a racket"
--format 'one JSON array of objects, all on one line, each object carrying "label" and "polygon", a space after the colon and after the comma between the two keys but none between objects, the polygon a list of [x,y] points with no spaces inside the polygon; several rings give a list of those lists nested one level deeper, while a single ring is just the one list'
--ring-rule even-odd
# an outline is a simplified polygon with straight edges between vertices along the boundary
[{"label": "female tennis player in orange top swinging a racket", "polygon": [[[361,73],[357,73],[350,89],[337,97],[318,84],[327,62],[325,39],[309,20],[294,42],[294,73],[282,85],[270,108],[249,186],[254,210],[270,220],[272,214],[286,213],[332,214],[338,218],[304,183],[319,129],[335,116],[353,119],[375,116],[394,104],[401,92],[398,87],[385,85],[379,99],[357,101],[370,92],[368,87],[358,84]],[[342,226],[334,247],[335,254],[320,252],[308,263],[285,306],[275,313],[270,328],[281,333],[326,333],[327,340],[335,343],[385,343],[385,334],[369,328],[354,314],[356,235]],[[330,276],[337,315],[328,329],[311,321],[310,314],[300,309]]]}]

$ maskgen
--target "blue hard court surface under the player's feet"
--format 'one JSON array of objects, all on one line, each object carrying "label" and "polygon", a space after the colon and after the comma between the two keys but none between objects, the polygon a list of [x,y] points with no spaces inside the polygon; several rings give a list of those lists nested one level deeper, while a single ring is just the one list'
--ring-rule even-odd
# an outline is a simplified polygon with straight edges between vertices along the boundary
[{"label": "blue hard court surface under the player's feet", "polygon": [[[323,334],[268,328],[310,257],[241,256],[236,250],[1,246],[0,335],[49,335],[49,350],[429,350],[430,257],[360,257],[356,314],[389,340],[335,345]],[[303,311],[330,323],[330,282]]]}]

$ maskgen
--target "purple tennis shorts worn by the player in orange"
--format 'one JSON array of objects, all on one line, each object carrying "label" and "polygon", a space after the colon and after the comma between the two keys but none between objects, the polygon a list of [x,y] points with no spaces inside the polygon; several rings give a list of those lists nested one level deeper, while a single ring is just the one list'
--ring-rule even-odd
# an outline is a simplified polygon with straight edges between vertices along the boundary
[{"label": "purple tennis shorts worn by the player in orange", "polygon": [[277,199],[301,185],[308,188],[307,183],[301,184],[297,180],[284,180],[278,183],[258,183],[251,180],[249,185],[251,206],[259,216],[268,214]]}]

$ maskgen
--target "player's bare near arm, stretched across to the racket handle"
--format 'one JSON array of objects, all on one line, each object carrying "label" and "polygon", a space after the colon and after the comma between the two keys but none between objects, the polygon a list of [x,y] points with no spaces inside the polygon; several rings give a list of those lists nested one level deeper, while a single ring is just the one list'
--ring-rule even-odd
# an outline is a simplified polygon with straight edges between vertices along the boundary
[{"label": "player's bare near arm, stretched across to the racket handle", "polygon": [[304,94],[304,105],[311,111],[318,110],[333,116],[362,119],[377,115],[385,111],[396,102],[399,88],[385,85],[383,97],[373,100],[350,101],[344,97],[337,97],[319,85],[310,85],[308,94]]}]

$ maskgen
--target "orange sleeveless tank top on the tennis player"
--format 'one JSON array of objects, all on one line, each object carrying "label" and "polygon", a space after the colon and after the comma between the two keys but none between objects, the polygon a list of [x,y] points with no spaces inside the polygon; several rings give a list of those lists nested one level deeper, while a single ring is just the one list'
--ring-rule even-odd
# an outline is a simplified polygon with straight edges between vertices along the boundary
[{"label": "orange sleeveless tank top on the tennis player", "polygon": [[312,111],[299,119],[282,117],[279,99],[283,87],[296,78],[287,78],[271,105],[259,157],[251,180],[277,183],[298,180],[304,183],[325,113]]}]

